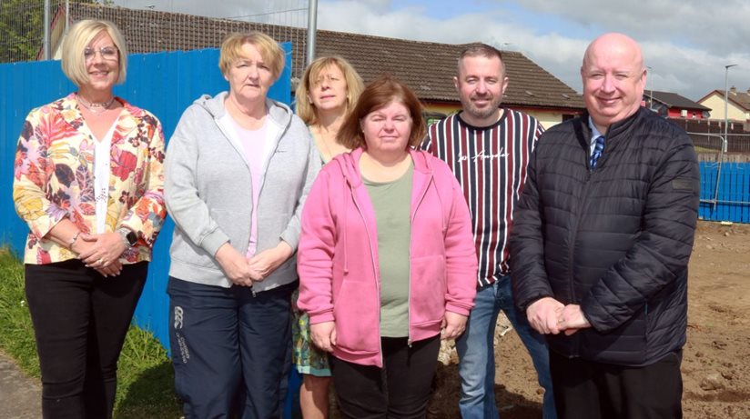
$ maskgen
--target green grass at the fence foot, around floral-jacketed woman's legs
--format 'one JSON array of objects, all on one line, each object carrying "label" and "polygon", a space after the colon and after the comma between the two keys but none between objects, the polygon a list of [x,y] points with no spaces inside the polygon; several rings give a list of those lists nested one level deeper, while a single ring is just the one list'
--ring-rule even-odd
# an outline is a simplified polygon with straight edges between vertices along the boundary
[{"label": "green grass at the fence foot, around floral-jacketed woman's legs", "polygon": [[[39,377],[34,327],[25,302],[24,266],[7,248],[0,248],[0,348],[25,374]],[[180,416],[167,351],[153,334],[131,325],[117,368],[115,417]]]}]

